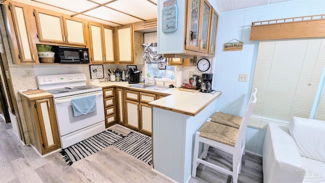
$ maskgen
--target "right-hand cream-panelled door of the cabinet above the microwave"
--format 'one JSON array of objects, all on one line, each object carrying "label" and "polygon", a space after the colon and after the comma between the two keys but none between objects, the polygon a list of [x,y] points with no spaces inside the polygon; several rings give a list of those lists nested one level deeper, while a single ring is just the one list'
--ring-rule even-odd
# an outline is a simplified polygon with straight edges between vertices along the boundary
[{"label": "right-hand cream-panelled door of the cabinet above the microwave", "polygon": [[65,18],[67,44],[86,45],[82,20]]}]

